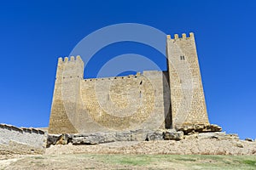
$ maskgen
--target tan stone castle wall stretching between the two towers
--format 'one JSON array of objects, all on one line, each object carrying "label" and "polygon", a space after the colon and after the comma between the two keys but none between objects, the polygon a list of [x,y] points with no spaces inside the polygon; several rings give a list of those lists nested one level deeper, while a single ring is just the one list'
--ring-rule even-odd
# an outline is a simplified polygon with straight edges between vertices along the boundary
[{"label": "tan stone castle wall stretching between the two towers", "polygon": [[[79,118],[81,122],[76,123],[80,124],[79,131],[165,128],[165,79],[162,71],[85,79],[81,82],[84,111]],[[88,116],[84,117],[85,113]],[[84,124],[90,126],[85,128]]]}]

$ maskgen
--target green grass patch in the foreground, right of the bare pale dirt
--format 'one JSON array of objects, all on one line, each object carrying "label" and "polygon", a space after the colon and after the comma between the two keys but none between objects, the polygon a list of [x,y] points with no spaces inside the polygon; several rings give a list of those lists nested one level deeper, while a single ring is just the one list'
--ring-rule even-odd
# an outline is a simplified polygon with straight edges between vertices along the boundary
[{"label": "green grass patch in the foreground, right of the bare pale dirt", "polygon": [[[112,165],[149,166],[156,164],[181,164],[191,169],[252,169],[256,156],[205,156],[205,155],[94,155],[96,160]],[[254,159],[255,158],[255,159]],[[168,163],[167,163],[168,164]]]}]

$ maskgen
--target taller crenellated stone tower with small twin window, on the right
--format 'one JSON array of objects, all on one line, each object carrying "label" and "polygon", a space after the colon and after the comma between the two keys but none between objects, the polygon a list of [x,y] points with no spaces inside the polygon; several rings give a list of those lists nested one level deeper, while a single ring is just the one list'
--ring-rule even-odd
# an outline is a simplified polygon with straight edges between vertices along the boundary
[{"label": "taller crenellated stone tower with small twin window, on the right", "polygon": [[193,33],[166,40],[169,72],[172,127],[208,125],[207,106],[201,82],[201,72]]}]

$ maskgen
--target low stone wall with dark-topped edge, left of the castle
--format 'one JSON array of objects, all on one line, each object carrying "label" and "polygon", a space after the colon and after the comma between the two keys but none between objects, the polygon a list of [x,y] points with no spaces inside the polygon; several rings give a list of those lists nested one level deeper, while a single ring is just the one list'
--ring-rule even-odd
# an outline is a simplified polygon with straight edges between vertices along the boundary
[{"label": "low stone wall with dark-topped edge, left of the castle", "polygon": [[43,153],[47,133],[27,127],[0,124],[0,152],[2,153]]}]

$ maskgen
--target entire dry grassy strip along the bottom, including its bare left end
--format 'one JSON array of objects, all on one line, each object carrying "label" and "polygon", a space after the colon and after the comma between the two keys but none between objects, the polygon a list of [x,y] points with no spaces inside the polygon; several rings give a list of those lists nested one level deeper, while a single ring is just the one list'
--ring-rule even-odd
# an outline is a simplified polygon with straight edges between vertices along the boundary
[{"label": "entire dry grassy strip along the bottom, including its bare left end", "polygon": [[0,169],[256,169],[256,156],[25,156],[0,166]]}]

